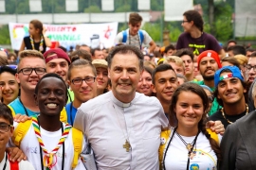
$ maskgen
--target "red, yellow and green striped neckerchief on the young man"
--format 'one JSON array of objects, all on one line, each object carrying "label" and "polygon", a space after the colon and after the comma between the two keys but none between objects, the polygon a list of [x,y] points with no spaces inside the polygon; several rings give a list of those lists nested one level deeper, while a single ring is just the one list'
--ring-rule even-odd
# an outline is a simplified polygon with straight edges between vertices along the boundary
[{"label": "red, yellow and green striped neckerchief on the young man", "polygon": [[[68,136],[69,130],[71,129],[71,126],[69,124],[65,124],[64,130],[62,130],[63,134],[62,134],[62,137],[59,140],[59,143],[57,144],[57,146],[52,151],[48,152],[47,149],[46,149],[46,146],[45,146],[45,144],[42,140],[42,137],[41,137],[40,125],[39,125],[39,121],[38,121],[37,117],[34,117],[34,116],[32,117],[32,125],[34,127],[34,131],[35,131],[37,140],[38,140],[41,148],[43,149],[44,153],[46,154],[45,157],[44,157],[44,160],[43,160],[43,164],[48,169],[51,169],[57,162],[57,161],[55,161],[55,163],[52,164],[53,163],[53,156],[56,156],[55,154],[57,153],[57,151],[59,150],[61,145],[64,144],[64,140]],[[62,129],[63,129],[63,125],[62,125]],[[64,148],[64,145],[63,145],[63,148]],[[64,152],[63,152],[63,166],[64,166]]]}]

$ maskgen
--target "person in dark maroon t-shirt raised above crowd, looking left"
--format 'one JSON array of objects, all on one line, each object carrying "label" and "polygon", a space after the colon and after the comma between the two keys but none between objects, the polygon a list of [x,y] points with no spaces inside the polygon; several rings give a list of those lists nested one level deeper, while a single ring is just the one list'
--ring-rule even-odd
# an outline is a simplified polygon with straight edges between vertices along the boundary
[{"label": "person in dark maroon t-shirt raised above crowd, looking left", "polygon": [[176,43],[176,49],[191,48],[195,58],[206,50],[216,51],[221,58],[225,57],[225,51],[219,42],[210,34],[204,32],[204,21],[196,10],[188,10],[183,13],[181,26],[184,28]]}]

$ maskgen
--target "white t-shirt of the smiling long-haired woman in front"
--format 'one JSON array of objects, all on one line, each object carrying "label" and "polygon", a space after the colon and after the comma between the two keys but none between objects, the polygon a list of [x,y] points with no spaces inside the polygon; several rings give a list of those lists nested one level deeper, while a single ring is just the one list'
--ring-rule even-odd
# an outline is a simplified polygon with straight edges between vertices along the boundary
[{"label": "white t-shirt of the smiling long-haired woman in front", "polygon": [[[172,129],[174,131],[174,129]],[[173,135],[173,133],[172,133]],[[166,143],[166,147],[169,144],[171,136]],[[180,135],[181,136],[181,135]],[[192,144],[195,136],[185,137],[181,136],[187,144]],[[219,141],[221,140],[221,136],[218,135]],[[190,170],[216,170],[217,169],[217,157],[214,151],[210,147],[210,142],[207,137],[200,132],[196,144],[193,149],[193,158],[190,160],[189,169]],[[188,150],[177,136],[174,134],[174,138],[167,150],[166,158],[165,158],[165,168],[166,170],[184,170],[187,168],[188,162]]]}]

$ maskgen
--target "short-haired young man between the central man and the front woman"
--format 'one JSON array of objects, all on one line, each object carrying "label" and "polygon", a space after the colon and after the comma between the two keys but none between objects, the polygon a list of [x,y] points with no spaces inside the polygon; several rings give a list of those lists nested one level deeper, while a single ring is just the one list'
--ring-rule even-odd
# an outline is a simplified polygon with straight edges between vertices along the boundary
[{"label": "short-haired young man between the central man and the front woman", "polygon": [[152,90],[168,115],[172,96],[179,85],[174,69],[169,64],[160,64],[153,71],[152,79]]}]

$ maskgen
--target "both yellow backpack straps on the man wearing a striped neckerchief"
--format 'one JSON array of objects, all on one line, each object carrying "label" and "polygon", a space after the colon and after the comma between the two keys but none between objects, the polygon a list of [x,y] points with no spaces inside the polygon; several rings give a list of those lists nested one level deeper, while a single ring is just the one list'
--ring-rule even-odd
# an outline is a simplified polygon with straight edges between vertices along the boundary
[{"label": "both yellow backpack straps on the man wearing a striped neckerchief", "polygon": [[[25,137],[28,128],[31,126],[32,120],[27,120],[24,123],[19,123],[19,125],[14,129],[12,142],[16,146],[20,146],[21,141]],[[72,162],[72,167],[75,168],[78,164],[78,161],[80,159],[80,154],[82,152],[82,131],[72,127],[72,141],[74,145],[74,158]]]}]

